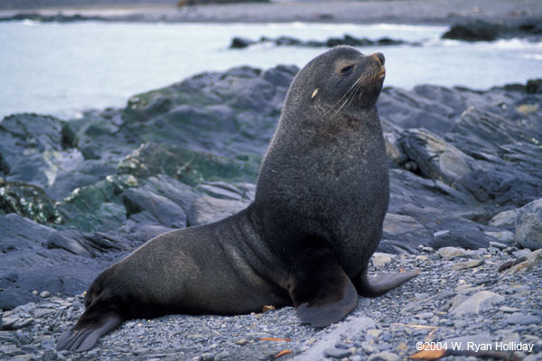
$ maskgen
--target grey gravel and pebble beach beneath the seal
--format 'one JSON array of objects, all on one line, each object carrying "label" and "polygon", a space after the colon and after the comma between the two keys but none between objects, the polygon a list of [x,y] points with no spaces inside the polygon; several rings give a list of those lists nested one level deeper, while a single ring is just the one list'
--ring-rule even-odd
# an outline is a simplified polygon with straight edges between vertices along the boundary
[{"label": "grey gravel and pebble beach beneath the seal", "polygon": [[[516,355],[540,359],[542,289],[533,280],[542,279],[542,264],[524,273],[498,273],[500,264],[516,259],[517,249],[493,249],[497,252],[473,251],[484,262],[461,270],[454,265],[463,263],[463,257],[447,260],[426,246],[419,255],[371,265],[371,274],[399,268],[420,274],[384,296],[360,298],[346,319],[324,329],[300,324],[292,307],[228,317],[170,315],[127,321],[86,353],[56,352],[56,339],[84,310],[83,295],[51,295],[3,312],[0,358],[268,360],[282,355],[278,358],[399,360],[416,354],[418,342],[460,339],[527,345],[530,352]],[[472,300],[481,301],[468,310]]]}]

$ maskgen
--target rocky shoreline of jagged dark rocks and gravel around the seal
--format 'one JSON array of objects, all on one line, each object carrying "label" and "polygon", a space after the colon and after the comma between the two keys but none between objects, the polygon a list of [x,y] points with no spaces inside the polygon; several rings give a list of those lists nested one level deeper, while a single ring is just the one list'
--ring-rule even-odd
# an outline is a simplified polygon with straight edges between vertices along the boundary
[{"label": "rocky shoreline of jagged dark rocks and gravel around the seal", "polygon": [[176,315],[127,322],[86,354],[53,350],[108,264],[164,231],[246,207],[296,71],[202,73],[66,122],[5,117],[0,357],[250,360],[290,350],[281,358],[396,360],[416,342],[456,337],[532,344],[526,359],[541,356],[541,80],[384,89],[391,202],[371,272],[420,276],[360,299],[339,324],[299,325],[291,308]]}]

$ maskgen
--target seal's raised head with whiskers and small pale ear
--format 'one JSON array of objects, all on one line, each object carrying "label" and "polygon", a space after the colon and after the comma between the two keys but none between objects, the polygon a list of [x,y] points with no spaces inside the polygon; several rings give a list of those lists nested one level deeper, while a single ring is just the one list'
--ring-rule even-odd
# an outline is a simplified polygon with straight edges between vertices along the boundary
[{"label": "seal's raised head with whiskers and small pale ear", "polygon": [[[384,55],[364,55],[338,46],[299,71],[288,94],[288,106],[308,106],[331,116],[375,105],[386,76]],[[309,110],[309,109],[304,109]]]}]

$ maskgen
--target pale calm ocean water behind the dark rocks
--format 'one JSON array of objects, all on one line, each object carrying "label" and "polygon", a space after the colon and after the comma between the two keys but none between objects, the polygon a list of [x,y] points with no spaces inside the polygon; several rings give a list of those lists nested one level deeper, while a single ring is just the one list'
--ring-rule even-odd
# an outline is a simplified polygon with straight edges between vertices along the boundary
[{"label": "pale calm ocean water behind the dark rocks", "polygon": [[207,70],[303,66],[323,48],[260,44],[229,50],[234,36],[325,40],[345,33],[422,46],[361,48],[386,56],[386,86],[484,89],[542,78],[542,42],[442,41],[442,26],[332,23],[0,23],[0,118],[35,112],[61,118],[125,106],[128,97]]}]

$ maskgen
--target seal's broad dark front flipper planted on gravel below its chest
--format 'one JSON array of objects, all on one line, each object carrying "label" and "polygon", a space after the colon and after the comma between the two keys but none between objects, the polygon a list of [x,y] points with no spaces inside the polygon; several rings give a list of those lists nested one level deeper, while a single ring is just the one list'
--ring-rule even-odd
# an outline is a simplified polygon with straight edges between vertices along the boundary
[{"label": "seal's broad dark front flipper planted on gravel below its chest", "polygon": [[304,323],[325,327],[356,307],[356,289],[328,248],[304,250],[295,264],[289,292]]}]

